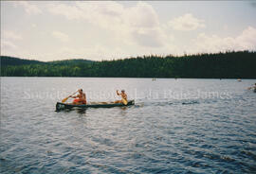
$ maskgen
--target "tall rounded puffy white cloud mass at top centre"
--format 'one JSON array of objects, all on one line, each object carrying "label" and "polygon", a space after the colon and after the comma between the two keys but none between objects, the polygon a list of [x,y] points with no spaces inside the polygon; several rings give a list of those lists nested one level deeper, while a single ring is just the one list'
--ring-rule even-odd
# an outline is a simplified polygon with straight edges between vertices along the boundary
[{"label": "tall rounded puffy white cloud mass at top centre", "polygon": [[128,30],[128,37],[138,45],[146,47],[164,45],[165,33],[152,6],[138,2],[137,6],[124,10],[122,21]]}]

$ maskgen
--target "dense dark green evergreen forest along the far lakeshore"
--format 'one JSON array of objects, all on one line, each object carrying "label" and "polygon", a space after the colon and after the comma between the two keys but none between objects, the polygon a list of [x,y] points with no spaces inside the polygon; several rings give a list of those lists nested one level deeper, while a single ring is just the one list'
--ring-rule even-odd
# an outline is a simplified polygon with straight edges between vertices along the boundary
[{"label": "dense dark green evergreen forest along the far lakeshore", "polygon": [[28,61],[1,56],[2,77],[256,78],[256,52]]}]

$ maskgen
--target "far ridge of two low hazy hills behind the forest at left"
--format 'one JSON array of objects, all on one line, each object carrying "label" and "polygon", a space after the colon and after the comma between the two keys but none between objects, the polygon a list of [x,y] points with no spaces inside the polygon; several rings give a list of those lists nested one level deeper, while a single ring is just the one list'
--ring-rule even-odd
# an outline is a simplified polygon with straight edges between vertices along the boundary
[{"label": "far ridge of two low hazy hills behind the forest at left", "polygon": [[20,58],[14,58],[9,56],[1,56],[1,66],[7,65],[26,65],[26,64],[53,64],[53,65],[73,65],[80,63],[91,63],[94,61],[89,60],[64,60],[64,61],[35,61],[35,60],[25,60]]}]

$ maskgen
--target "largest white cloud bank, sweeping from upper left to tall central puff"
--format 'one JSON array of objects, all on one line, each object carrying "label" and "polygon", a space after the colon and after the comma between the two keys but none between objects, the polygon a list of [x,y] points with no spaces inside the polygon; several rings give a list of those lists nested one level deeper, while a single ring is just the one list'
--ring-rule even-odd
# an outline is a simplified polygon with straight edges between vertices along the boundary
[{"label": "largest white cloud bank, sweeping from upper left to tall central puff", "polygon": [[76,2],[73,6],[55,3],[48,6],[52,14],[78,20],[113,32],[119,42],[159,47],[164,44],[162,28],[153,7],[145,2],[125,8],[117,2]]}]

